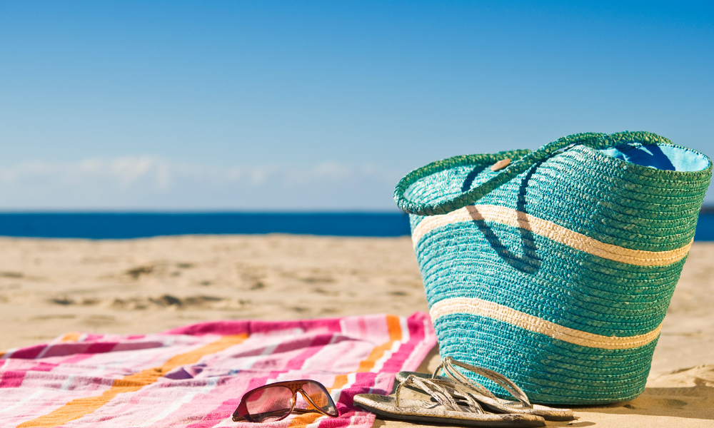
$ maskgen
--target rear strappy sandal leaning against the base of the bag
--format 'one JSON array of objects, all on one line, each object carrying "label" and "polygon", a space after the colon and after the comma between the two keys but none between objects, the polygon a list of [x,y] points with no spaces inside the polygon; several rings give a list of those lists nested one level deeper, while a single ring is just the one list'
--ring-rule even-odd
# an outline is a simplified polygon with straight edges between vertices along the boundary
[{"label": "rear strappy sandal leaning against the base of the bag", "polygon": [[[464,376],[458,371],[456,366],[462,367],[470,372],[476,373],[480,376],[486,377],[486,379],[496,382],[496,384],[503,387],[503,389],[506,389],[508,393],[516,398],[518,402],[496,397],[493,395],[493,392],[486,389],[486,387],[482,384]],[[438,376],[437,373],[439,370],[443,370],[446,376]],[[403,379],[407,379],[410,376],[421,379],[429,379],[431,381],[436,380],[439,382],[451,382],[453,384],[460,385],[462,388],[466,388],[466,391],[468,391],[468,394],[471,395],[473,399],[476,399],[476,401],[488,407],[488,409],[493,412],[534,414],[549,421],[569,421],[575,419],[573,416],[573,410],[571,409],[557,409],[540,404],[531,404],[526,396],[526,393],[523,392],[523,389],[518,387],[518,385],[516,385],[511,379],[508,379],[508,377],[503,376],[503,374],[483,367],[466,364],[465,362],[459,362],[454,360],[452,357],[446,357],[441,364],[436,367],[434,374],[431,376],[426,373],[399,372],[396,375],[396,379],[398,382],[402,382]],[[464,389],[461,389],[461,391],[463,390]]]}]

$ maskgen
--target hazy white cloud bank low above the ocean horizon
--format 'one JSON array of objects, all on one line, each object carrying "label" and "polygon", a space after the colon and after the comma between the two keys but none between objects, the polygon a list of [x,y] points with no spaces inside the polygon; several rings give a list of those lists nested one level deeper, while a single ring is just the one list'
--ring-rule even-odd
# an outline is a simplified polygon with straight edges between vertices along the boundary
[{"label": "hazy white cloud bank low above the ocean horizon", "polygon": [[0,166],[0,209],[396,209],[376,165],[221,167],[154,156]]}]

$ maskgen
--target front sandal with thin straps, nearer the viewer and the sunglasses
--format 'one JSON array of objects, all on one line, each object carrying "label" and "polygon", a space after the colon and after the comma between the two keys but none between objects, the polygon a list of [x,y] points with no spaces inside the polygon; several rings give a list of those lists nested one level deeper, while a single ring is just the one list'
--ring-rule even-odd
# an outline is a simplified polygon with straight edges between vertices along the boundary
[{"label": "front sandal with thin straps, nearer the viewer and the sunglasses", "polygon": [[[403,387],[426,393],[434,401],[401,399]],[[471,389],[471,387],[469,387]],[[456,398],[456,399],[455,399]],[[418,422],[472,425],[476,427],[543,427],[545,419],[535,414],[486,412],[466,388],[441,379],[408,376],[391,395],[357,394],[354,403],[382,417]]]}]

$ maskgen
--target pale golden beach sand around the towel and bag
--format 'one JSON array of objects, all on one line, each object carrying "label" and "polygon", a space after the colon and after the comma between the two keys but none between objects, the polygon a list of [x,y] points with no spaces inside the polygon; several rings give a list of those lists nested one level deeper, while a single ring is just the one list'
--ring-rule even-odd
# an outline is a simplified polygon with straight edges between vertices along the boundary
[{"label": "pale golden beach sand around the towel and bag", "polygon": [[[555,427],[714,426],[714,243],[695,243],[645,392]],[[0,350],[64,332],[159,332],[222,318],[428,311],[409,238],[0,238]],[[421,367],[438,362],[438,350]],[[375,426],[403,428],[378,419]]]}]

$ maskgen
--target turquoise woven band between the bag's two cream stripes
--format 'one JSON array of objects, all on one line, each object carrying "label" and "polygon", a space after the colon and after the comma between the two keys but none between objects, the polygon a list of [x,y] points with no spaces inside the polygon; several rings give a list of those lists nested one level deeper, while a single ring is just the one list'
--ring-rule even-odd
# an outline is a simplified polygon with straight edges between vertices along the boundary
[{"label": "turquoise woven band between the bag's two cream stripes", "polygon": [[[504,250],[520,246],[521,237],[516,230],[498,224],[490,226]],[[582,263],[578,281],[562,280],[570,272],[558,255],[568,254],[568,248],[538,236],[534,242],[539,249],[540,267],[530,273],[533,259],[529,260],[528,252],[526,261],[523,254],[498,255],[488,243],[473,243],[471,237],[476,233],[478,226],[473,224],[450,226],[432,233],[417,249],[430,307],[451,297],[478,297],[575,330],[635,336],[660,325],[678,280],[671,274],[673,266],[630,267],[585,253],[573,255]],[[427,248],[447,234],[450,245],[431,254]],[[468,263],[476,258],[478,264]],[[505,266],[503,258],[509,259]],[[683,264],[684,260],[678,262],[678,268]],[[443,275],[444,265],[458,265],[458,277]],[[613,275],[598,277],[598,270],[626,271],[630,277],[619,275],[622,278],[613,284]],[[507,283],[501,287],[503,282]],[[536,294],[538,300],[533,299]]]}]

